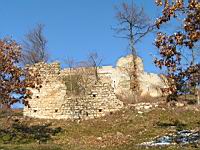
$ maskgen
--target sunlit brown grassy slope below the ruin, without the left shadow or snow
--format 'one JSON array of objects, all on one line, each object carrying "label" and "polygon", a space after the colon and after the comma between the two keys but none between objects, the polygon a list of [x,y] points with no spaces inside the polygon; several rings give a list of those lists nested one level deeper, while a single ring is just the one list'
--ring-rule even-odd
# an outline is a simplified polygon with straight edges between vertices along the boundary
[{"label": "sunlit brown grassy slope below the ruin, without the left shadow or snow", "polygon": [[[5,128],[6,119],[1,117],[0,128]],[[0,144],[0,149],[105,149],[134,150],[145,147],[137,144],[150,141],[153,137],[173,133],[180,129],[200,129],[199,112],[193,109],[162,106],[142,115],[133,108],[121,110],[112,115],[82,121],[80,123],[63,120],[21,119],[27,126],[52,123],[50,128],[61,127],[62,131],[52,136],[46,144],[30,142],[26,144]],[[10,121],[12,123],[12,121]],[[200,149],[195,145],[174,145],[149,149]]]}]

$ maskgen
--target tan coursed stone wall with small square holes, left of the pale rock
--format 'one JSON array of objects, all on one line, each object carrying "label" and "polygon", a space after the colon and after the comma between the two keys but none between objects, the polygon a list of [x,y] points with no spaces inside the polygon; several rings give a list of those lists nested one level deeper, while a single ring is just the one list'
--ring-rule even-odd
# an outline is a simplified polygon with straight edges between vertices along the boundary
[{"label": "tan coursed stone wall with small square holes, left of the pale rock", "polygon": [[[92,119],[113,113],[123,107],[111,86],[111,79],[104,77],[87,89],[85,95],[67,95],[62,77],[67,75],[58,63],[39,63],[43,81],[40,90],[32,89],[31,108],[24,108],[24,116],[45,119]],[[103,80],[103,81],[102,81]]]}]

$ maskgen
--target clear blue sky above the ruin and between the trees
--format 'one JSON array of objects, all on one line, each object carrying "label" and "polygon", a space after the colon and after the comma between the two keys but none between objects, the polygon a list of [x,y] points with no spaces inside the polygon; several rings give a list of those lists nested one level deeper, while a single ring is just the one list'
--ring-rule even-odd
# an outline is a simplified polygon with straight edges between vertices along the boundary
[{"label": "clear blue sky above the ruin and between the trees", "polygon": [[[117,24],[116,10],[122,0],[0,0],[0,37],[12,36],[20,42],[25,33],[37,23],[45,24],[45,36],[51,61],[73,57],[86,58],[91,51],[103,57],[103,65],[114,65],[128,53],[127,41],[115,38],[112,26]],[[130,2],[127,0],[127,2]],[[160,13],[154,0],[135,0],[144,6],[146,13],[155,20]],[[155,33],[147,35],[136,48],[144,60],[145,70],[158,72],[152,54]]]}]

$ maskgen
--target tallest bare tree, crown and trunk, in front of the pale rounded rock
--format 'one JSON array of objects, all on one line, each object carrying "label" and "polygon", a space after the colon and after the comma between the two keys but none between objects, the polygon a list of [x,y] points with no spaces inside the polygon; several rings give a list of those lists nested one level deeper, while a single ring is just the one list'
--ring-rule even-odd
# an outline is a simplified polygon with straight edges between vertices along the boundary
[{"label": "tallest bare tree, crown and trunk, in front of the pale rounded rock", "polygon": [[[137,51],[135,45],[150,31],[154,29],[150,19],[145,14],[143,8],[137,7],[133,2],[131,4],[122,3],[120,8],[117,8],[116,14],[118,27],[114,28],[120,38],[125,38],[129,41],[129,49],[133,57],[133,70],[131,75],[130,88],[136,96],[139,91],[139,82],[137,75]],[[137,96],[135,97],[137,100]]]}]

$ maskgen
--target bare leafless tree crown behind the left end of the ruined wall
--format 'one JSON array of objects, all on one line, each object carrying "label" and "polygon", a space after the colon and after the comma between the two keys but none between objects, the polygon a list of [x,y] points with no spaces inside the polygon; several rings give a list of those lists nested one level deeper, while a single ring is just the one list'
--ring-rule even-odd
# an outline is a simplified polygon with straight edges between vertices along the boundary
[{"label": "bare leafless tree crown behind the left end of the ruined wall", "polygon": [[47,62],[47,40],[43,34],[44,25],[37,26],[25,35],[23,41],[22,63],[35,64],[38,62]]}]

